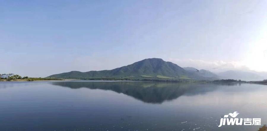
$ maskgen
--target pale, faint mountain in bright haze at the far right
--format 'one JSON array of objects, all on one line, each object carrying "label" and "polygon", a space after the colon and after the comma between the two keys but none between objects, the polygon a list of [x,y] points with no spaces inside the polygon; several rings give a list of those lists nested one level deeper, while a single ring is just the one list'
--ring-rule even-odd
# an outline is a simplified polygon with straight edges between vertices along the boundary
[{"label": "pale, faint mountain in bright haze at the far right", "polygon": [[231,70],[218,73],[217,75],[219,75],[221,79],[241,79],[244,81],[259,81],[267,78],[262,72],[256,71]]}]

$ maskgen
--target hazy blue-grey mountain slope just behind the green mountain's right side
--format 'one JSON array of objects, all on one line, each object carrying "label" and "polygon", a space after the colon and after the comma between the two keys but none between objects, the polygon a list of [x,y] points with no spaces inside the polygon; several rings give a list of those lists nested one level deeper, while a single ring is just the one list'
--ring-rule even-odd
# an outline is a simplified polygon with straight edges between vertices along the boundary
[{"label": "hazy blue-grey mountain slope just behind the green mountain's right side", "polygon": [[197,71],[196,68],[193,68],[193,67],[184,67],[183,69],[185,69],[186,71],[190,71],[192,73],[194,73],[195,75],[199,75],[199,76],[203,76],[203,77],[212,77],[212,78],[218,78],[219,79],[219,76],[212,73],[211,71],[208,71],[208,70],[199,70]]}]

